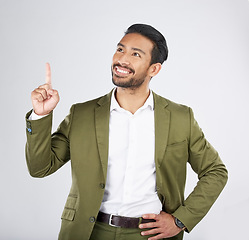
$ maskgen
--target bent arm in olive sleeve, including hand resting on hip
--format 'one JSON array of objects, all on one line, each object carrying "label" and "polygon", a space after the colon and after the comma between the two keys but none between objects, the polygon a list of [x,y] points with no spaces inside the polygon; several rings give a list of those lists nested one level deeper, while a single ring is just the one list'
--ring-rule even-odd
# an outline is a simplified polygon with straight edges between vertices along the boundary
[{"label": "bent arm in olive sleeve, including hand resting on hip", "polygon": [[161,212],[158,215],[143,216],[145,219],[156,220],[153,223],[140,225],[140,228],[154,228],[143,232],[144,235],[158,234],[149,238],[150,240],[171,237],[183,230],[176,227],[173,216],[184,223],[186,231],[190,232],[206,215],[227,181],[227,170],[218,153],[204,138],[191,109],[189,109],[188,122],[188,162],[198,174],[199,181],[193,192],[172,215]]}]

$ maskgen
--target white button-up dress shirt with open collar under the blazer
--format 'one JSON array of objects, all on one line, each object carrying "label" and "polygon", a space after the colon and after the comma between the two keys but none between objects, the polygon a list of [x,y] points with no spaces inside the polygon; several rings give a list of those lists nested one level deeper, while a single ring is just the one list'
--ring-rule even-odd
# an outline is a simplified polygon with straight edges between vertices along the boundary
[{"label": "white button-up dress shirt with open collar under the blazer", "polygon": [[156,192],[154,101],[150,93],[135,114],[124,110],[112,94],[107,181],[100,211],[141,217],[158,214]]}]

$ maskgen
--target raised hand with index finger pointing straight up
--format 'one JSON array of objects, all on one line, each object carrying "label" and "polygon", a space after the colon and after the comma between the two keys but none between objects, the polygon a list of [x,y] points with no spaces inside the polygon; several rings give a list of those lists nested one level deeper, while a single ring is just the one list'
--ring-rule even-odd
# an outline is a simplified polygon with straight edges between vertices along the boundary
[{"label": "raised hand with index finger pointing straight up", "polygon": [[31,93],[33,110],[37,115],[49,114],[58,104],[60,97],[58,91],[52,89],[51,69],[46,63],[46,83]]}]

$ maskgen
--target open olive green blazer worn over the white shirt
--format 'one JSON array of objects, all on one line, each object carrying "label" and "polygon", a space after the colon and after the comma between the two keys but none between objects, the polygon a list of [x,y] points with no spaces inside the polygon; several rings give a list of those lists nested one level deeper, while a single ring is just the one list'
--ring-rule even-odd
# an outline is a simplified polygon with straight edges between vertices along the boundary
[{"label": "open olive green blazer worn over the white shirt", "polygon": [[[207,142],[189,107],[153,93],[157,193],[163,210],[191,231],[205,216],[227,181],[227,170]],[[105,191],[111,93],[75,104],[51,136],[52,114],[28,120],[26,160],[31,176],[45,177],[71,160],[72,187],[60,240],[90,238]],[[186,164],[198,183],[185,199]],[[182,239],[182,234],[179,238]]]}]

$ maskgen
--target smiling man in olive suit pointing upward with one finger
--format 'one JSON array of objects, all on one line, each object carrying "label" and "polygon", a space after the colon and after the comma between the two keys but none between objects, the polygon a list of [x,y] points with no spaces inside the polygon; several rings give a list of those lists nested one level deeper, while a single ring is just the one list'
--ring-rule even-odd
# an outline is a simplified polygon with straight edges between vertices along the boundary
[{"label": "smiling man in olive suit pointing upward with one finger", "polygon": [[[27,114],[30,174],[44,177],[71,160],[72,187],[62,214],[60,240],[182,239],[208,212],[227,171],[206,141],[192,110],[149,88],[167,59],[163,35],[134,24],[117,44],[116,88],[75,104],[51,136],[59,94],[35,89]],[[184,199],[186,164],[198,174]]]}]

